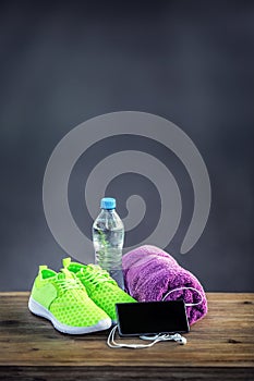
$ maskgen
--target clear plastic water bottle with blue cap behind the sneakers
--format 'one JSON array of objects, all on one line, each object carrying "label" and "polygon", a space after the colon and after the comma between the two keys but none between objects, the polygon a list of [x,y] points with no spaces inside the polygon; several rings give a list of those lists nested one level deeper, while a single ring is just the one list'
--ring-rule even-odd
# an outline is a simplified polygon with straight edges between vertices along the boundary
[{"label": "clear plastic water bottle with blue cap behind the sneakers", "polygon": [[107,270],[124,288],[122,274],[122,247],[124,226],[116,211],[116,199],[106,197],[100,201],[100,213],[93,224],[95,263]]}]

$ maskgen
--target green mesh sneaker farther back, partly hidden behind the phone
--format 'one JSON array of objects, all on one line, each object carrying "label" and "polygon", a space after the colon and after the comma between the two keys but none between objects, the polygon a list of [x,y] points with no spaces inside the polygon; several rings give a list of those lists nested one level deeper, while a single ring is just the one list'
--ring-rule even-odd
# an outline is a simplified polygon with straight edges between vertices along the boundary
[{"label": "green mesh sneaker farther back, partly hidden behind the phone", "polygon": [[135,303],[129,294],[118,286],[118,283],[97,265],[72,262],[63,259],[63,268],[76,274],[84,284],[88,296],[117,323],[116,303]]}]

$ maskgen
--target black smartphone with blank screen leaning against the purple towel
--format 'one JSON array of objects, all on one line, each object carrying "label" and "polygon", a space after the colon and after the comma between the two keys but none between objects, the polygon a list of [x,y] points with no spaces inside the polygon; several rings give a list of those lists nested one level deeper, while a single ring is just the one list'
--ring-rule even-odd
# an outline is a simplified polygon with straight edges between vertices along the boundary
[{"label": "black smartphone with blank screen leaning against the purple towel", "polygon": [[190,331],[183,300],[118,303],[116,309],[122,336]]}]

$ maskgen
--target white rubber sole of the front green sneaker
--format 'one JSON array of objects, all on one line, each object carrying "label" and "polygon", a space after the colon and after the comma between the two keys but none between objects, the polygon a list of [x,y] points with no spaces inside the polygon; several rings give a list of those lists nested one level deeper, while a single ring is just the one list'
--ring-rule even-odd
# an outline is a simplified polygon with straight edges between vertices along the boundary
[{"label": "white rubber sole of the front green sneaker", "polygon": [[104,320],[100,320],[97,324],[90,325],[90,327],[72,327],[72,325],[65,325],[58,321],[56,317],[44,306],[41,306],[38,302],[35,302],[33,297],[29,297],[28,302],[28,308],[31,312],[34,315],[40,316],[45,319],[48,319],[51,321],[56,330],[62,332],[62,333],[69,333],[69,334],[83,334],[83,333],[90,333],[90,332],[97,332],[97,331],[104,331],[111,327],[112,322],[110,318],[106,318]]}]

